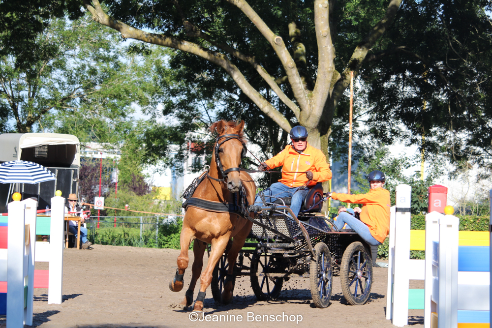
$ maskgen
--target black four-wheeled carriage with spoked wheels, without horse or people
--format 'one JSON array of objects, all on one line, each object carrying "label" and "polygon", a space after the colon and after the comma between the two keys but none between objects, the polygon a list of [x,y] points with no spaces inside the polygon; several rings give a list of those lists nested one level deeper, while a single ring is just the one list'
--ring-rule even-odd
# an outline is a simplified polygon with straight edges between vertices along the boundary
[{"label": "black four-wheeled carriage with spoked wheels, without horse or people", "polygon": [[[261,208],[250,207],[262,210],[251,218],[253,226],[248,237],[256,242],[245,243],[233,275],[249,276],[258,300],[277,298],[283,282],[290,278],[309,278],[313,302],[324,308],[330,303],[333,275],[341,277],[342,292],[349,304],[361,305],[368,300],[372,284],[371,246],[352,230],[336,231],[334,225],[329,228],[325,223],[330,220],[315,215],[324,201],[318,183],[310,189],[297,218],[288,207],[288,198],[277,198]],[[228,266],[224,253],[211,284],[217,302],[221,301]]]}]

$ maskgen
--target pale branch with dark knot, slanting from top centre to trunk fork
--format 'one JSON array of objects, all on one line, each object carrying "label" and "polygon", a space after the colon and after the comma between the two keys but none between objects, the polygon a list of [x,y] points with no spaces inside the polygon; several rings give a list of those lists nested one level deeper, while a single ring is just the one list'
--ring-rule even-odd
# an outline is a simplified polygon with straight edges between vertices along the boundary
[{"label": "pale branch with dark knot, slanting from top centre to trunk fork", "polygon": [[245,15],[251,20],[251,22],[256,26],[256,28],[263,34],[268,42],[272,45],[278,59],[282,63],[282,66],[287,73],[289,78],[290,86],[294,97],[297,99],[299,107],[301,110],[308,110],[309,99],[307,98],[306,89],[304,88],[303,81],[297,70],[296,63],[290,56],[285,43],[282,38],[270,30],[270,28],[263,22],[263,20],[258,16],[258,14],[249,6],[245,0],[227,0],[237,6]]}]

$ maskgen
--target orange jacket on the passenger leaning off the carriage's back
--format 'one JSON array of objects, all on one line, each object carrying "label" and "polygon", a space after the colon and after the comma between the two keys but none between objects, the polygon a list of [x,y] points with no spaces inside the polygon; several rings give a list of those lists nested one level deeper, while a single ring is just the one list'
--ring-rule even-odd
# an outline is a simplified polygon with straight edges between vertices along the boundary
[{"label": "orange jacket on the passenger leaning off the carriage's back", "polygon": [[347,203],[364,204],[361,221],[374,239],[383,242],[390,231],[390,192],[384,188],[370,189],[367,194],[349,195],[332,192],[333,199]]}]

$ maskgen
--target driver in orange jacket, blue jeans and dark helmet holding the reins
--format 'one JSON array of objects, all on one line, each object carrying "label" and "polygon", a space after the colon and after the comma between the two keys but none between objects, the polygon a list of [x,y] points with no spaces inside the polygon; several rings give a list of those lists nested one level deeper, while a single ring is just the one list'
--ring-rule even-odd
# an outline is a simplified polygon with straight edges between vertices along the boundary
[{"label": "driver in orange jacket, blue jeans and dark helmet holding the reins", "polygon": [[[261,163],[258,170],[283,166],[282,178],[263,193],[265,196],[292,197],[290,209],[297,216],[309,187],[331,179],[332,172],[323,152],[307,144],[307,130],[304,126],[294,126],[289,135],[292,145]],[[276,198],[265,197],[265,200],[275,202]],[[261,198],[256,196],[255,205],[262,204]]]}]

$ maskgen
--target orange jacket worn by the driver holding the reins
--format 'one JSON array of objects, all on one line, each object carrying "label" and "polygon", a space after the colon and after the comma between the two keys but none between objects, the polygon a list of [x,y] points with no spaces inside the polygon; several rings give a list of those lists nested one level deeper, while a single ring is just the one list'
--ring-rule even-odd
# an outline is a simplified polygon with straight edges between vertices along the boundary
[{"label": "orange jacket worn by the driver holding the reins", "polygon": [[[308,186],[313,186],[316,182],[324,182],[332,178],[330,166],[326,163],[326,156],[321,150],[306,145],[302,153],[298,153],[292,145],[288,145],[276,156],[265,161],[269,168],[276,168],[281,165],[282,179],[278,182],[289,187],[300,187],[308,182],[304,172],[311,171],[313,179]],[[288,173],[303,172],[303,173]]]}]

